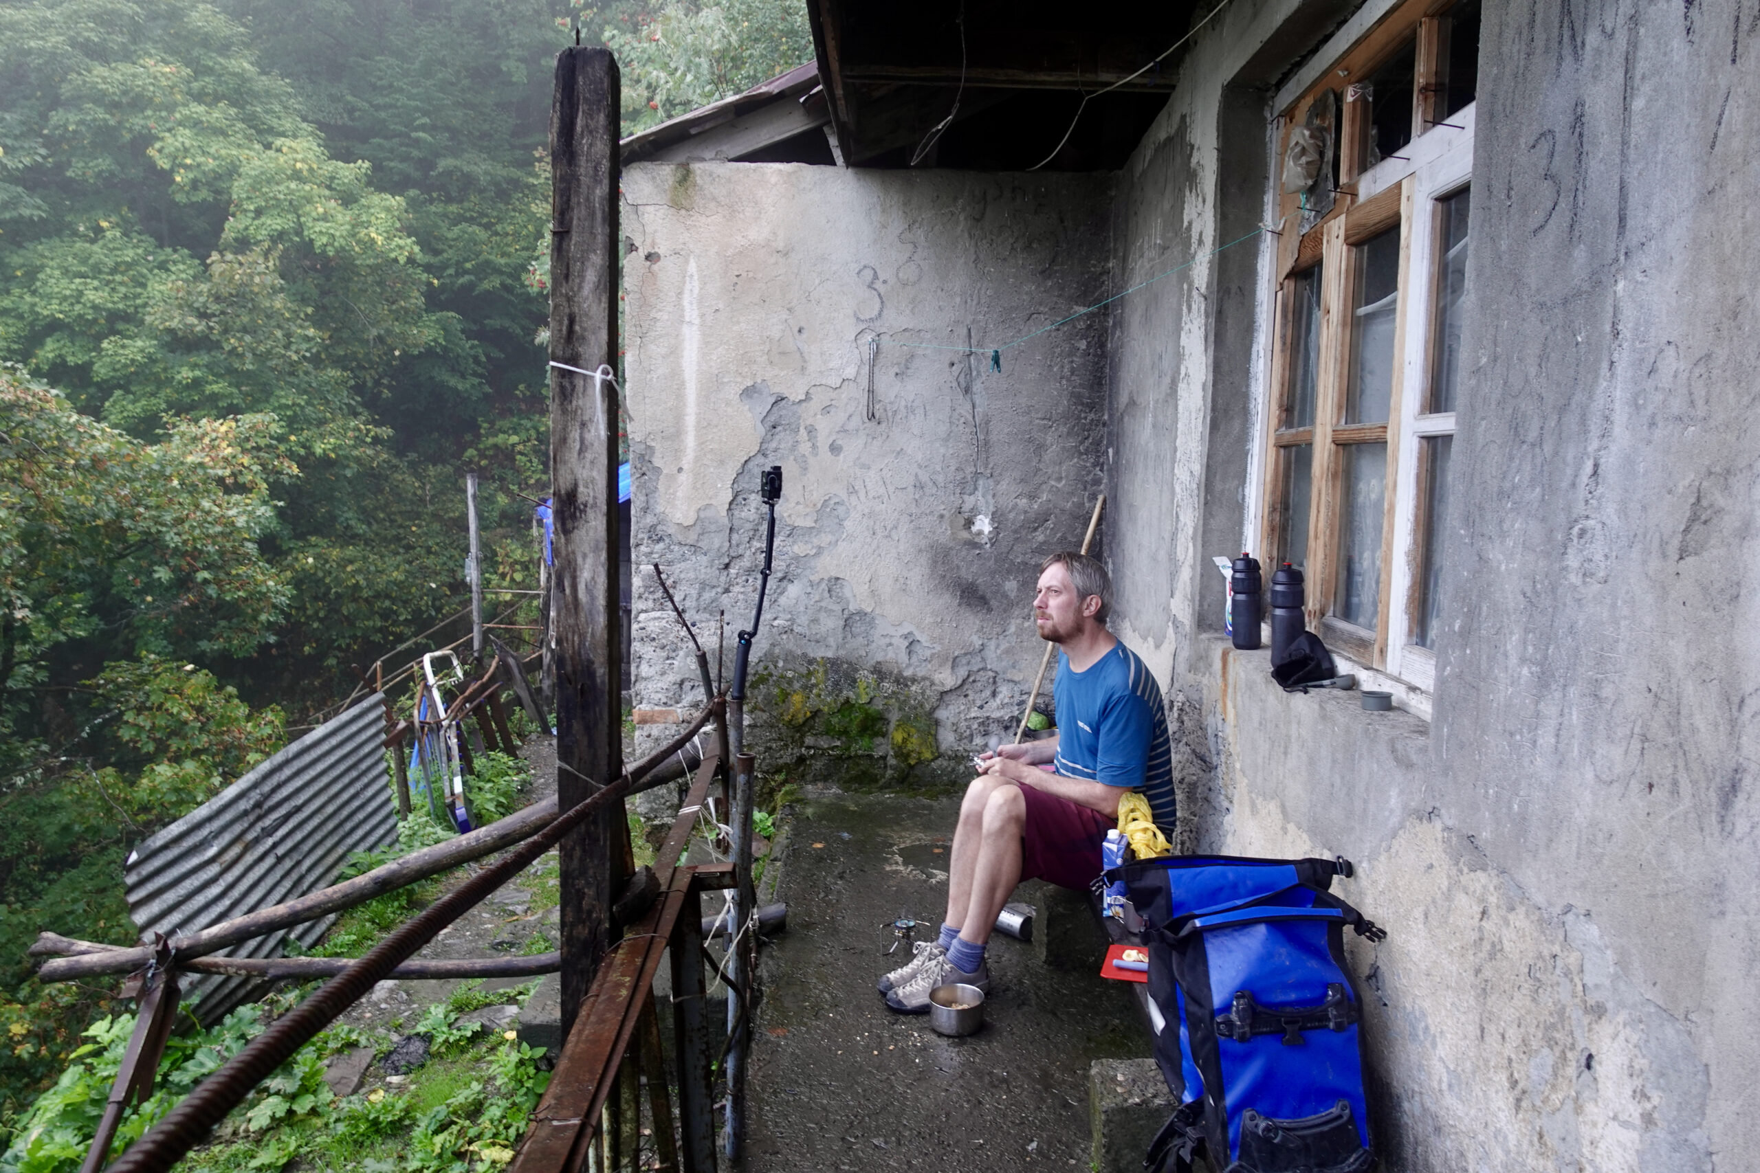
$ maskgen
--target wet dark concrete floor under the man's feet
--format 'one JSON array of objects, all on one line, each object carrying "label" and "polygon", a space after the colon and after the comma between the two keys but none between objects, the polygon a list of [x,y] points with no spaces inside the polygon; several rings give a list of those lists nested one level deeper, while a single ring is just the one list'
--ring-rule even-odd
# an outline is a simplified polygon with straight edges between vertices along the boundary
[{"label": "wet dark concrete floor under the man's feet", "polygon": [[933,936],[957,798],[820,791],[796,805],[762,953],[746,1169],[1088,1168],[1088,1067],[1149,1053],[1123,983],[1049,969],[991,943],[986,1025],[964,1039],[894,1015],[875,992],[903,964],[884,925]]}]

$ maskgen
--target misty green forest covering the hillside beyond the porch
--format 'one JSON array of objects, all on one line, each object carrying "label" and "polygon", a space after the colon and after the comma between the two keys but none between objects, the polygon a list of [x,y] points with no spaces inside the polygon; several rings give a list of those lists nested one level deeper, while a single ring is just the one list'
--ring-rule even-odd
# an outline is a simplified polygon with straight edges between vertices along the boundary
[{"label": "misty green forest covering the hillside beyond the porch", "polygon": [[[813,53],[788,0],[0,0],[0,1169],[77,1168],[128,1034],[113,983],[30,976],[35,934],[134,943],[130,848],[456,619],[466,471],[486,582],[537,584],[576,35],[616,51],[625,134]],[[172,1041],[123,1140],[248,1011]],[[313,1152],[294,1118],[431,1141],[359,1168],[495,1164],[512,1055],[421,1118],[326,1117],[292,1064],[252,1117],[283,1140],[213,1168]]]}]

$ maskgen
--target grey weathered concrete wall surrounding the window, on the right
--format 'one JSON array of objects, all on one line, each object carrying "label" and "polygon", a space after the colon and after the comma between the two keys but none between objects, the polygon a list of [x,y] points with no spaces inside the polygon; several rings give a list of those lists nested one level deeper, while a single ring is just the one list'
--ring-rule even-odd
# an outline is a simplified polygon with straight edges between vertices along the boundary
[{"label": "grey weathered concrete wall surrounding the window, on the right", "polygon": [[[1123,274],[1260,215],[1243,106],[1297,19],[1241,2],[1193,42],[1119,181]],[[1755,1166],[1756,37],[1751,5],[1485,4],[1433,723],[1287,696],[1209,635],[1251,280],[1200,260],[1114,315],[1116,626],[1179,714],[1183,837],[1357,862],[1387,1168]]]}]

